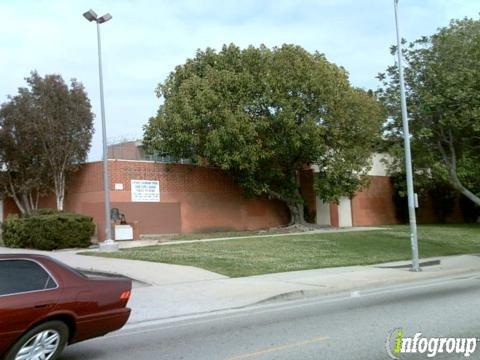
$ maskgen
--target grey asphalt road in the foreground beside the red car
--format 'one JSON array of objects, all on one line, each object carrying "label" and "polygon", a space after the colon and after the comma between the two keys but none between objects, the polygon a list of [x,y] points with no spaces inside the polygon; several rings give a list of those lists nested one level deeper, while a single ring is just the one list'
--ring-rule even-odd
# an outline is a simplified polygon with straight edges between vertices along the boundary
[{"label": "grey asphalt road in the foreground beside the red car", "polygon": [[[385,341],[396,328],[480,337],[480,274],[127,326],[72,345],[62,359],[388,359]],[[465,357],[435,357],[456,358]],[[469,358],[480,359],[480,343]]]}]

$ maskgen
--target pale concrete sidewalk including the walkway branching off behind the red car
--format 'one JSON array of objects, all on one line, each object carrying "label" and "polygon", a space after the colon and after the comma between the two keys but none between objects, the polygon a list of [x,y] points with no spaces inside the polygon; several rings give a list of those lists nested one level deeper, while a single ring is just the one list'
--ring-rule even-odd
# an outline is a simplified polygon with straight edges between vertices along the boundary
[{"label": "pale concrete sidewalk including the walkway branching off behind the red car", "polygon": [[133,309],[130,324],[245,307],[279,298],[355,292],[480,272],[480,256],[458,255],[422,259],[425,266],[420,273],[409,271],[410,262],[400,261],[228,278],[190,266],[83,256],[74,251],[0,248],[0,253],[18,252],[44,253],[76,268],[122,274],[149,284],[136,286],[133,291],[129,302]]}]

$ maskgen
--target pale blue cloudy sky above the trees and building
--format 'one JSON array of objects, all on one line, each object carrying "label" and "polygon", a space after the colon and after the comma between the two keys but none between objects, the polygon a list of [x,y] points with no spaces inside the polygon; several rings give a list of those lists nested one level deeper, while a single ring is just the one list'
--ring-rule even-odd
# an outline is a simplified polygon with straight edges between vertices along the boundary
[{"label": "pale blue cloudy sky above the trees and building", "polygon": [[[197,49],[296,44],[343,66],[354,86],[375,89],[394,63],[393,0],[0,0],[0,103],[32,70],[85,86],[95,117],[89,160],[102,157],[97,39],[101,25],[107,138],[141,138],[162,99],[157,85]],[[453,18],[479,17],[479,0],[400,0],[402,37],[431,35]]]}]

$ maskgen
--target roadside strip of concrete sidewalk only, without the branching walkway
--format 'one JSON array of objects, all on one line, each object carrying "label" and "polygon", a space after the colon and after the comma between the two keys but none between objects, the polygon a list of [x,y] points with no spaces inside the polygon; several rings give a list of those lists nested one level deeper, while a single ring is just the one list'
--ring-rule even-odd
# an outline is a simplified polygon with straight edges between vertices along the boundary
[{"label": "roadside strip of concrete sidewalk only, without the branching walkway", "polygon": [[427,260],[440,260],[440,264],[425,266],[420,273],[385,267],[409,265],[402,261],[145,287],[131,299],[135,311],[130,323],[480,272],[480,257],[476,255],[423,259],[422,263]]}]

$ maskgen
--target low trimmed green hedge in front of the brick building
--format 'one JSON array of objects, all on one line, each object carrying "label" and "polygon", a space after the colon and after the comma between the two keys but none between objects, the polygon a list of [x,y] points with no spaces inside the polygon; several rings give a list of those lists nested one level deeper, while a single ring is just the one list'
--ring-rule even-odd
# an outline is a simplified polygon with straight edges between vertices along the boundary
[{"label": "low trimmed green hedge in front of the brick building", "polygon": [[24,217],[10,215],[2,224],[6,246],[39,250],[88,247],[94,231],[91,217],[50,209]]}]

